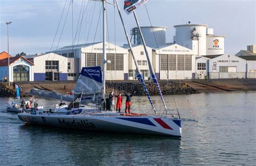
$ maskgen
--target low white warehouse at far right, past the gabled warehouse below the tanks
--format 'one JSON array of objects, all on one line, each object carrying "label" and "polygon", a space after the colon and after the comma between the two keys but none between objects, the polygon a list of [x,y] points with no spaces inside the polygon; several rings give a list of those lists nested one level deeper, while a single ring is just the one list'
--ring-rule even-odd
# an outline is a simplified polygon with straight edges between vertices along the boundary
[{"label": "low white warehouse at far right, past the gabled warehouse below the tanks", "polygon": [[[255,56],[256,57],[256,56]],[[206,55],[197,57],[196,78],[256,78],[256,58],[231,54]]]}]

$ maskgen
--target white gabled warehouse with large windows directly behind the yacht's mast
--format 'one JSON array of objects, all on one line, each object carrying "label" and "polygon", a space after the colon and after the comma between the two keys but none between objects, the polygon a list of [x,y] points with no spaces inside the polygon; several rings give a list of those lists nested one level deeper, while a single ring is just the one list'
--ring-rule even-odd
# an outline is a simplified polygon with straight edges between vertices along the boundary
[{"label": "white gabled warehouse with large windows directly behind the yacht's mast", "polygon": [[[54,53],[75,59],[75,64],[71,64],[72,72],[79,75],[82,67],[102,66],[102,42],[66,46],[55,50]],[[107,63],[106,80],[128,80],[128,50],[120,46],[106,42],[106,58],[111,63]],[[68,62],[67,62],[68,63]]]}]

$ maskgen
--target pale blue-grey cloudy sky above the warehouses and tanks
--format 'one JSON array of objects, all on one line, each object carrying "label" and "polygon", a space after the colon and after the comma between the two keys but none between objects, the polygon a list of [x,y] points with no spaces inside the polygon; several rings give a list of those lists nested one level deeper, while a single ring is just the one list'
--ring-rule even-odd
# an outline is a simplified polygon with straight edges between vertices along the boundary
[{"label": "pale blue-grey cloudy sky above the warehouses and tanks", "polygon": [[[101,41],[102,19],[100,18],[98,28],[97,23],[102,4],[86,0],[81,11],[84,12],[82,26],[77,28],[80,24],[78,18],[84,0],[73,0],[73,24],[70,1],[0,0],[0,52],[7,51],[6,21],[12,21],[9,26],[11,55],[21,52],[35,54],[72,45],[72,25],[73,37],[76,32],[77,38],[79,37],[79,41],[76,38],[75,44],[93,42],[94,38],[95,42]],[[123,0],[119,1],[119,5],[123,9]],[[225,53],[235,54],[240,49],[246,49],[247,45],[256,44],[255,0],[149,0],[146,7],[153,26],[168,27],[167,42],[173,41],[174,25],[191,21],[192,24],[207,24],[214,28],[214,34],[226,35]],[[63,17],[51,48],[63,9]],[[116,28],[116,44],[123,45],[126,44],[123,28],[117,11],[114,11],[112,5],[107,5],[109,32],[107,40],[114,43]],[[150,26],[144,6],[137,10],[137,15],[142,26]],[[116,26],[114,26],[114,16],[116,16]],[[127,30],[136,26],[132,15],[127,16],[123,11],[123,17]],[[80,20],[81,18],[82,16]]]}]

